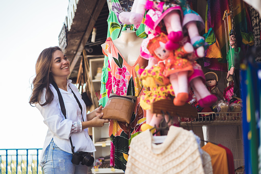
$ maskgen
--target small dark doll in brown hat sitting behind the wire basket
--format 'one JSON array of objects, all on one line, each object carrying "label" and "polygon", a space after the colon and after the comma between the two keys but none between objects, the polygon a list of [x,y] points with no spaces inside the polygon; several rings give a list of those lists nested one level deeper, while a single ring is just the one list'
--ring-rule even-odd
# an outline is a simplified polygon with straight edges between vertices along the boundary
[{"label": "small dark doll in brown hat sitting behind the wire basket", "polygon": [[224,99],[223,92],[221,92],[218,87],[216,87],[218,78],[216,73],[214,72],[207,72],[205,74],[206,78],[206,86],[208,87],[211,94],[214,94],[215,96],[218,96],[221,100]]}]

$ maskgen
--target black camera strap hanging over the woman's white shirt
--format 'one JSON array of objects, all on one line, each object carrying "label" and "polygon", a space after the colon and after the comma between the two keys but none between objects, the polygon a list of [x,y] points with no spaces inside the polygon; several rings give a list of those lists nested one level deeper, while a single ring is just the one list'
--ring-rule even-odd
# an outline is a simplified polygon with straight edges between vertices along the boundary
[{"label": "black camera strap hanging over the woman's white shirt", "polygon": [[[59,103],[60,103],[60,106],[61,106],[61,110],[62,110],[62,113],[64,114],[64,117],[66,119],[66,109],[65,109],[65,105],[64,105],[64,100],[63,100],[63,96],[57,86],[57,84],[53,81],[52,82],[52,85],[54,87],[54,89],[57,91],[57,94],[58,94],[58,98],[59,98]],[[69,86],[70,87],[70,86]],[[71,87],[70,87],[71,89]],[[72,89],[71,89],[72,91]],[[82,113],[82,118],[83,118],[83,108],[82,108],[82,105],[79,103],[76,95],[74,94],[74,92],[72,91],[73,95],[74,95],[74,98],[76,99],[78,105],[79,105],[79,108],[81,109],[81,113]],[[84,121],[84,118],[83,118],[83,121]],[[72,139],[71,137],[69,138],[70,139],[70,143],[71,143],[71,146],[72,146],[72,154],[74,154],[74,146],[72,145]]]}]

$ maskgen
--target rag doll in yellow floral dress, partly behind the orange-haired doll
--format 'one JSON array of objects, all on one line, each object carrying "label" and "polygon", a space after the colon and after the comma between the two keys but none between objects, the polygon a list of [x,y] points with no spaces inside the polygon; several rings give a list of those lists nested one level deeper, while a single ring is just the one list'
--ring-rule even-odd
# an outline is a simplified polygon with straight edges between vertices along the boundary
[{"label": "rag doll in yellow floral dress, partly behind the orange-haired doll", "polygon": [[[149,88],[149,91],[140,96],[140,106],[146,110],[146,124],[143,124],[141,129],[145,131],[147,129],[152,129],[153,127],[158,127],[160,121],[163,119],[161,114],[153,114],[151,112],[151,103],[167,99],[171,100],[174,96],[174,91],[172,85],[169,82],[169,79],[166,78],[159,66],[152,66],[150,69],[145,69],[140,74],[140,80],[144,87]],[[168,116],[165,116],[165,121],[168,123]],[[174,121],[178,123],[178,121]],[[154,131],[153,129],[151,130]]]}]

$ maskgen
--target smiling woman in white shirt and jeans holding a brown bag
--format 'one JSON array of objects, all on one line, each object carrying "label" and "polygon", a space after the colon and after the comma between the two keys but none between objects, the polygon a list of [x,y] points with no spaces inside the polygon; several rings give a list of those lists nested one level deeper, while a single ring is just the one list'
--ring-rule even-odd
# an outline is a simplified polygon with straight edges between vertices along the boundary
[{"label": "smiling woman in white shirt and jeans holding a brown bag", "polygon": [[[102,106],[86,114],[86,106],[77,88],[67,80],[70,74],[70,62],[59,47],[44,49],[39,55],[36,76],[32,84],[32,95],[29,103],[35,104],[48,126],[43,147],[41,166],[45,173],[87,173],[86,165],[75,165],[72,160],[72,149],[69,138],[75,147],[74,152],[95,151],[89,137],[88,127],[102,127],[108,120],[101,119]],[[55,82],[62,94],[66,119],[61,111]],[[73,93],[75,93],[82,111]],[[83,116],[83,117],[82,117]],[[84,120],[83,120],[83,119]]]}]

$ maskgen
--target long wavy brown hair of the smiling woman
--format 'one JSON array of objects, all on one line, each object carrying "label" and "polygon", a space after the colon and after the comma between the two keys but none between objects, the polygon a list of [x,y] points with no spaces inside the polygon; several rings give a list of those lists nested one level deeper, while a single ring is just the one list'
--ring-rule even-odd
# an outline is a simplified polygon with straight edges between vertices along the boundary
[{"label": "long wavy brown hair of the smiling woman", "polygon": [[[33,83],[31,85],[32,94],[29,100],[31,106],[32,104],[36,104],[36,103],[38,103],[41,106],[45,106],[51,103],[53,100],[53,93],[49,85],[53,81],[52,74],[50,73],[50,69],[52,65],[52,56],[56,50],[62,51],[61,48],[59,47],[49,47],[44,49],[40,53],[36,61],[35,64],[36,76],[33,79]],[[44,88],[46,88],[45,103],[41,101],[41,96],[43,94]]]}]

